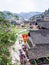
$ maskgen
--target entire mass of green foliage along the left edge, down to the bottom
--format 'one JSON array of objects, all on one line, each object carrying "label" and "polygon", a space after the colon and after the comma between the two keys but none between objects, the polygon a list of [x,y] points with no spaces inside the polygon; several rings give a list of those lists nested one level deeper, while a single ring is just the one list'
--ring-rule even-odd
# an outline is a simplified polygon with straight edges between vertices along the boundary
[{"label": "entire mass of green foliage along the left edge, down to the bottom", "polygon": [[8,20],[0,21],[0,65],[12,65],[8,47],[15,43],[17,35]]}]

